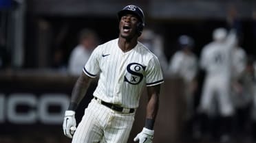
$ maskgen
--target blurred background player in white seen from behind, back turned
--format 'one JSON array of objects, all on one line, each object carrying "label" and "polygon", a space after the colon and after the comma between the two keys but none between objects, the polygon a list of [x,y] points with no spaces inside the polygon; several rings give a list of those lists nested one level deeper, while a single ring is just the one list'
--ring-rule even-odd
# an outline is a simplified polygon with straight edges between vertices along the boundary
[{"label": "blurred background player in white seen from behind, back turned", "polygon": [[[230,95],[231,53],[235,41],[234,30],[231,30],[227,36],[226,29],[222,27],[214,29],[213,42],[203,47],[200,57],[200,67],[205,70],[206,77],[198,111],[205,115],[207,127],[205,132],[208,131],[213,139],[220,137],[222,142],[230,139],[228,134],[235,113]],[[218,116],[221,122],[216,122]],[[222,129],[216,130],[216,127],[222,127]]]}]

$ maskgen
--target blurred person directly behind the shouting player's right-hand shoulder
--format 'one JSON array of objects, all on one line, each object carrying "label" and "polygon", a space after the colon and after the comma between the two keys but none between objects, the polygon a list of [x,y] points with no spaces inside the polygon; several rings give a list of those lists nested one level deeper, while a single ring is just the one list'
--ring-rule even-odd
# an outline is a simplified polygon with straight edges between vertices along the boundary
[{"label": "blurred person directly behind the shouting player's right-hand shoulder", "polygon": [[143,33],[138,38],[138,41],[144,44],[158,57],[162,71],[163,73],[166,73],[168,69],[168,61],[166,55],[164,55],[162,36],[156,34],[152,29],[144,29]]}]

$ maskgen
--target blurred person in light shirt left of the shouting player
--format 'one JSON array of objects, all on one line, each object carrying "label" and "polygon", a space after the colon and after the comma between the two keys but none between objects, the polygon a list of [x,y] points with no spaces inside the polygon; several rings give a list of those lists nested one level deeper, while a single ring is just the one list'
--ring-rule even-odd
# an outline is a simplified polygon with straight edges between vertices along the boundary
[{"label": "blurred person in light shirt left of the shouting player", "polygon": [[72,50],[67,71],[70,75],[79,76],[92,51],[98,45],[98,35],[92,29],[83,29],[79,35],[79,44]]}]

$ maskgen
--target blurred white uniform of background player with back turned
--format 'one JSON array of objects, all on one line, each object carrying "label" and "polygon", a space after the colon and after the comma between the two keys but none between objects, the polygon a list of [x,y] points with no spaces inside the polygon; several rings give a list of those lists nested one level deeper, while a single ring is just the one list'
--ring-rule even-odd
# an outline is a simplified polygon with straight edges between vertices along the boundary
[{"label": "blurred white uniform of background player with back turned", "polygon": [[200,66],[206,70],[206,79],[200,101],[200,112],[214,114],[214,105],[217,105],[222,116],[231,116],[234,113],[230,90],[231,51],[235,38],[235,34],[231,32],[225,42],[211,42],[202,50]]}]

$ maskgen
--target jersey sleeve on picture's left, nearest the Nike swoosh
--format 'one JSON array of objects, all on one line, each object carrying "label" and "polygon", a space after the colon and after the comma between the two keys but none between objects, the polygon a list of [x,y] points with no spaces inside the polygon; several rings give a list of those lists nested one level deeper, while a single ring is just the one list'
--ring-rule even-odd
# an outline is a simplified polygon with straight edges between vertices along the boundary
[{"label": "jersey sleeve on picture's left, nearest the Nike swoosh", "polygon": [[94,51],[92,52],[92,55],[89,57],[89,60],[86,62],[83,68],[83,73],[85,73],[89,77],[96,77],[100,72],[98,55],[100,55],[99,47],[94,49]]}]

